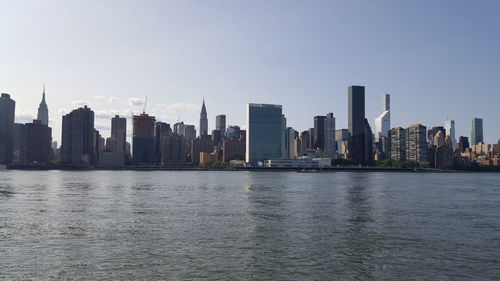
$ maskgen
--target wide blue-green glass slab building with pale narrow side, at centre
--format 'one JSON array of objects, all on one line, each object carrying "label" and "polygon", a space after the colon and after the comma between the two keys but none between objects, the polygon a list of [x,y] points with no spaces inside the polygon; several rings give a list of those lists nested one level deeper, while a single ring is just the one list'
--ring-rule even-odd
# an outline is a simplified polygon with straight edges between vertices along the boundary
[{"label": "wide blue-green glass slab building with pale narrow side, at centre", "polygon": [[282,158],[284,118],[281,105],[247,105],[246,162],[251,165]]}]

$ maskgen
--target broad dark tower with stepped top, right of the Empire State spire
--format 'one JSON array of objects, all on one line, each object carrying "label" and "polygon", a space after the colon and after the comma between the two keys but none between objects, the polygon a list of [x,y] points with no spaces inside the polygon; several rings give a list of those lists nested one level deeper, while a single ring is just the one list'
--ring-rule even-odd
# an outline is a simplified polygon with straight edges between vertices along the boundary
[{"label": "broad dark tower with stepped top, right of the Empire State spire", "polygon": [[61,162],[73,165],[97,164],[98,155],[94,111],[80,107],[63,116]]}]

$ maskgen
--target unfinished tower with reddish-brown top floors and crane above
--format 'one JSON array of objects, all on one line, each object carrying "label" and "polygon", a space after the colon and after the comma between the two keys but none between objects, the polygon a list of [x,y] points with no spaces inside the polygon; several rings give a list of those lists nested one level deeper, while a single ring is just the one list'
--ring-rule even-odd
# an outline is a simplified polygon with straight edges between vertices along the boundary
[{"label": "unfinished tower with reddish-brown top floors and crane above", "polygon": [[155,117],[145,112],[133,117],[132,161],[152,165],[155,161]]}]

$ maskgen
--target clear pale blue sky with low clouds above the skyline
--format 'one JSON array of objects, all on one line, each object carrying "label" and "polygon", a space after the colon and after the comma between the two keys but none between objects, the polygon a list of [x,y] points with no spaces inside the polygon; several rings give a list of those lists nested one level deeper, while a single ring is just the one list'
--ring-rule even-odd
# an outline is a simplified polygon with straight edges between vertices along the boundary
[{"label": "clear pale blue sky with low clouds above the skyline", "polygon": [[[45,83],[53,139],[82,105],[110,135],[115,114],[146,112],[198,127],[246,123],[247,103],[283,105],[287,125],[333,112],[347,128],[347,88],[366,87],[372,130],[391,94],[391,126],[484,119],[500,138],[500,1],[0,0],[0,92],[16,122],[36,117]],[[128,131],[131,133],[131,121]]]}]

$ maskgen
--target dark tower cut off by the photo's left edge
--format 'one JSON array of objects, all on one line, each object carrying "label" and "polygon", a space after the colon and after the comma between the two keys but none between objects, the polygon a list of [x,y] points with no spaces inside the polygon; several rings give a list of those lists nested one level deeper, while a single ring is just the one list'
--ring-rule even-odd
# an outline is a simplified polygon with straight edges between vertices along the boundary
[{"label": "dark tower cut off by the photo's left edge", "polygon": [[0,165],[12,162],[14,150],[14,117],[16,102],[9,94],[0,97]]}]

